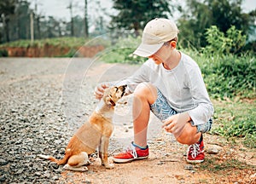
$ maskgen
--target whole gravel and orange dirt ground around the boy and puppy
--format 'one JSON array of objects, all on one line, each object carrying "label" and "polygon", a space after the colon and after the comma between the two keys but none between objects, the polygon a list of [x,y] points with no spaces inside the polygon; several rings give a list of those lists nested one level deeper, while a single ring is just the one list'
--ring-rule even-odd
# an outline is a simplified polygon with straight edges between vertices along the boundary
[{"label": "whole gravel and orange dirt ground around the boy and puppy", "polygon": [[[160,129],[154,116],[148,127],[147,160],[105,170],[96,159],[89,171],[79,173],[37,158],[42,152],[61,158],[75,129],[96,106],[96,83],[125,78],[137,67],[81,58],[0,59],[0,182],[256,183],[255,150],[206,134],[206,161],[187,164],[187,146]],[[132,140],[131,101],[132,95],[117,106],[111,155]]]}]

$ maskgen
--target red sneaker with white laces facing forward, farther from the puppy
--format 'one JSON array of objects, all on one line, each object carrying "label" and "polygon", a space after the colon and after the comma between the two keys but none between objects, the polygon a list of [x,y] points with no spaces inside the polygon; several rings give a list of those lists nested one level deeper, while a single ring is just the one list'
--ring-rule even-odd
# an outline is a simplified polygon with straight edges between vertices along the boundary
[{"label": "red sneaker with white laces facing forward, farther from the puppy", "polygon": [[190,145],[188,148],[187,162],[192,164],[202,163],[205,160],[204,142],[201,136],[201,141]]}]

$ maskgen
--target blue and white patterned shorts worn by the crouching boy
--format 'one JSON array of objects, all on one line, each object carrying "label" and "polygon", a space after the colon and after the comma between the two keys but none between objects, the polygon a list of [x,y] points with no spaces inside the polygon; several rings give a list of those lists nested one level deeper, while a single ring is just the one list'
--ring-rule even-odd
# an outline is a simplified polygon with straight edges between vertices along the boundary
[{"label": "blue and white patterned shorts worn by the crouching boy", "polygon": [[[157,99],[154,101],[154,104],[150,105],[150,110],[161,121],[178,113],[168,104],[166,97],[160,92],[159,89],[157,89]],[[193,121],[190,121],[190,124],[195,126]],[[197,132],[201,133],[210,131],[210,129],[212,129],[212,118],[210,118],[205,124],[196,125],[196,128]]]}]

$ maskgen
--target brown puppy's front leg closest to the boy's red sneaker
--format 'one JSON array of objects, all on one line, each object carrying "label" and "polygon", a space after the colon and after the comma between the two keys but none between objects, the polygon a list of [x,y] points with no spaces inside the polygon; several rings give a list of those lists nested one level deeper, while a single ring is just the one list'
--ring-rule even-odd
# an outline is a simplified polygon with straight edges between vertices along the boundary
[{"label": "brown puppy's front leg closest to the boy's red sneaker", "polygon": [[109,164],[108,162],[108,145],[109,145],[109,138],[102,135],[102,141],[100,145],[100,158],[102,159],[102,165],[105,165],[106,169],[113,169],[113,164]]}]

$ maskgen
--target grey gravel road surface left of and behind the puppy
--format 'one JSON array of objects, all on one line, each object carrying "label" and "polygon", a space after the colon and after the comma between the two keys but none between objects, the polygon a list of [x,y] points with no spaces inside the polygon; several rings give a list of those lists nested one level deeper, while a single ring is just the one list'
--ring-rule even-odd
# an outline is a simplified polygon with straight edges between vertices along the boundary
[{"label": "grey gravel road surface left of and behind the puppy", "polygon": [[[96,106],[96,83],[125,78],[136,68],[86,58],[0,59],[0,182],[55,183],[62,167],[37,155],[62,158]],[[132,125],[126,122],[119,127],[127,133]]]}]

